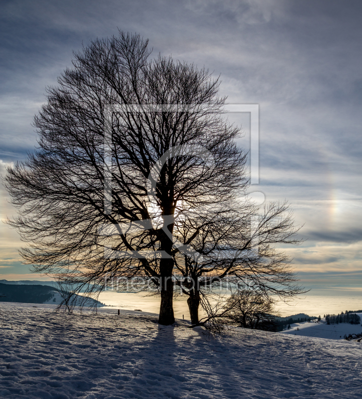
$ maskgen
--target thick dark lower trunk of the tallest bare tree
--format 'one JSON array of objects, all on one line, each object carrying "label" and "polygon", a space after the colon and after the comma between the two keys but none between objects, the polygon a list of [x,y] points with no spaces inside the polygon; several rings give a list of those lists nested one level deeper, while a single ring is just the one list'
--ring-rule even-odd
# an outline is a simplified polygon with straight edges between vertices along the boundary
[{"label": "thick dark lower trunk of the tallest bare tree", "polygon": [[169,326],[175,323],[173,313],[173,281],[172,281],[172,259],[161,259],[160,261],[160,292],[161,304],[158,324]]}]

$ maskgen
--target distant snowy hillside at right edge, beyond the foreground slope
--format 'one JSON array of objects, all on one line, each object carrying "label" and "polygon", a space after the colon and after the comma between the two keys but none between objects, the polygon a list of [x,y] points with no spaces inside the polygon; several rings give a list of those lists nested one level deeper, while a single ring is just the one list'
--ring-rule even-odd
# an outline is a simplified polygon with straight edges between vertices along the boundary
[{"label": "distant snowy hillside at right edge, beyond the foreground slope", "polygon": [[[362,320],[362,313],[357,313]],[[320,322],[314,320],[311,323],[295,323],[291,324],[289,330],[281,332],[282,334],[293,334],[304,337],[316,337],[316,338],[327,338],[332,340],[341,340],[349,334],[361,334],[362,326],[361,324],[349,324],[349,323],[339,323],[339,324],[326,324],[325,318]]]}]

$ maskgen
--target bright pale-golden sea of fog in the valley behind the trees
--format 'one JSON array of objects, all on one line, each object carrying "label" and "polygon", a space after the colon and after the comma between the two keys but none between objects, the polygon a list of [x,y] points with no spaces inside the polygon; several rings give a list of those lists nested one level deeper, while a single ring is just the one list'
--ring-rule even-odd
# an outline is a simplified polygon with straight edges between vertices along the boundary
[{"label": "bright pale-golden sea of fog in the valley behind the trees", "polygon": [[[314,290],[313,290],[314,291]],[[276,310],[281,316],[290,316],[298,313],[306,313],[310,316],[324,314],[337,314],[346,310],[362,309],[362,290],[336,289],[318,290],[318,292],[307,292],[294,301],[285,303],[279,301]],[[175,317],[190,319],[186,303],[187,297],[179,296],[174,300]],[[109,307],[118,309],[135,310],[143,312],[159,313],[160,298],[141,293],[119,293],[114,291],[104,291],[98,300]]]}]

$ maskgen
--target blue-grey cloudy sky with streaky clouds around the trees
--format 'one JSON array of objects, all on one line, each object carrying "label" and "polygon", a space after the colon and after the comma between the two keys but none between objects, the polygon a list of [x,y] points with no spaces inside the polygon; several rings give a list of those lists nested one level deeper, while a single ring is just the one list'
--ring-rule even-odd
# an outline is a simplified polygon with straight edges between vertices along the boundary
[{"label": "blue-grey cloudy sky with streaky clouds around the trees", "polygon": [[[260,184],[288,200],[302,284],[334,292],[362,283],[362,2],[346,0],[2,0],[0,173],[36,145],[33,116],[72,51],[117,28],[149,38],[151,57],[221,75],[230,104],[259,104]],[[250,146],[249,114],[241,123]],[[256,186],[256,185],[255,185]],[[0,218],[16,210],[0,187]],[[41,279],[21,264],[16,231],[0,222],[0,279]],[[47,278],[46,278],[47,279]]]}]

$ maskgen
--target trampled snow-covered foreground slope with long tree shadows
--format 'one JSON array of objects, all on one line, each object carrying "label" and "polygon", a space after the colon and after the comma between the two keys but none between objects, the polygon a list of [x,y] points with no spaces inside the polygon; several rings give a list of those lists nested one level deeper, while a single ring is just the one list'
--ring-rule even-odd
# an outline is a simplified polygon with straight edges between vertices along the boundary
[{"label": "trampled snow-covered foreground slope with long tree shadows", "polygon": [[[36,307],[32,307],[36,306]],[[362,345],[157,324],[154,314],[0,303],[0,397],[360,398]]]}]

